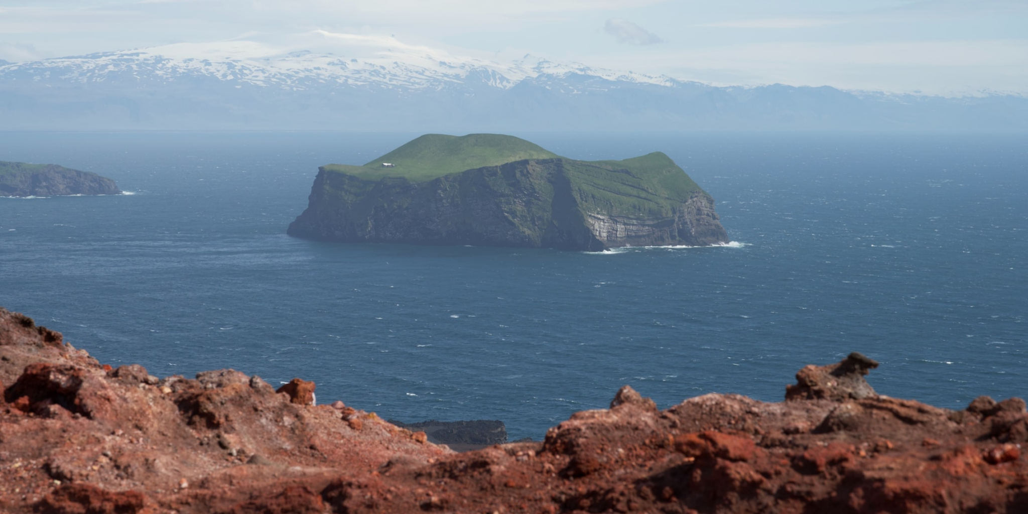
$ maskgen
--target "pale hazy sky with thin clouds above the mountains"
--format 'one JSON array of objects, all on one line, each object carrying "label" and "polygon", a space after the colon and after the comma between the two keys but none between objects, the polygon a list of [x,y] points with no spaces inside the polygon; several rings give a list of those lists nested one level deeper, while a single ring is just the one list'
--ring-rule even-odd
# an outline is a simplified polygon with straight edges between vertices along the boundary
[{"label": "pale hazy sky with thin clouds above the mountains", "polygon": [[0,60],[311,31],[718,85],[1028,95],[1028,0],[0,0]]}]

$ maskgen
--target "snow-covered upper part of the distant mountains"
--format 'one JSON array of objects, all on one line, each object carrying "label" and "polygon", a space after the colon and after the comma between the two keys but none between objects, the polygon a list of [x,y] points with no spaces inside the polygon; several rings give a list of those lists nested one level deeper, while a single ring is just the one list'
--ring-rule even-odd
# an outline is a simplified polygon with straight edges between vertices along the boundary
[{"label": "snow-covered upper part of the distant mountains", "polygon": [[[390,37],[311,33],[335,45],[315,44],[311,49],[283,49],[251,40],[213,43],[179,43],[153,48],[93,53],[13,64],[6,76],[33,80],[59,78],[89,83],[126,78],[169,82],[189,77],[211,77],[237,85],[308,89],[325,84],[374,85],[397,89],[439,89],[468,80],[509,89],[516,83],[542,75],[582,75],[609,81],[672,85],[664,76],[650,76],[594,69],[581,64],[558,64],[525,56],[501,64],[493,61],[451,56],[426,46],[405,45]],[[334,51],[331,51],[334,50]]]}]

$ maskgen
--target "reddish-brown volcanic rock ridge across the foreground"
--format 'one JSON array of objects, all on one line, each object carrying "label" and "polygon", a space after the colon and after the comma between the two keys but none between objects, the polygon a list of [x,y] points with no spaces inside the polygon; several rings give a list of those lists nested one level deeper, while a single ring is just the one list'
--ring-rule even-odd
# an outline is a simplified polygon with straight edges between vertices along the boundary
[{"label": "reddish-brown volcanic rock ridge across the foreground", "polygon": [[0,512],[1028,512],[1024,401],[888,398],[875,366],[806,367],[782,403],[626,386],[543,442],[456,453],[309,382],[111,369],[0,308]]}]

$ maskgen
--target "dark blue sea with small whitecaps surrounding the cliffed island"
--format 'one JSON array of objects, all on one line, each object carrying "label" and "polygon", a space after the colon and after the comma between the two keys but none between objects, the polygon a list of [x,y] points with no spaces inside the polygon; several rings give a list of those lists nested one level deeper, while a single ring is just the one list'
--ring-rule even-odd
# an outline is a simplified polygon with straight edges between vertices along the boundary
[{"label": "dark blue sea with small whitecaps surrounding the cliffed island", "polygon": [[415,134],[0,133],[131,195],[0,198],[0,305],[114,366],[318,383],[405,421],[539,439],[629,383],[666,407],[782,398],[852,351],[879,393],[1028,396],[1028,145],[1015,137],[520,135],[576,158],[661,150],[729,248],[610,253],[285,235],[319,164]]}]

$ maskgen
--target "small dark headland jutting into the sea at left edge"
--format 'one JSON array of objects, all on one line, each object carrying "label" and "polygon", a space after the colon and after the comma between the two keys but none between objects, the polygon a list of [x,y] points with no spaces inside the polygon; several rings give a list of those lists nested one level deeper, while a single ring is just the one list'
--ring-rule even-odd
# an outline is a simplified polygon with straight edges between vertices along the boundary
[{"label": "small dark headland jutting into the sea at left edge", "polygon": [[58,164],[0,160],[0,196],[121,194],[113,180]]}]

